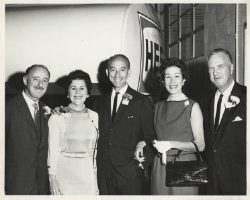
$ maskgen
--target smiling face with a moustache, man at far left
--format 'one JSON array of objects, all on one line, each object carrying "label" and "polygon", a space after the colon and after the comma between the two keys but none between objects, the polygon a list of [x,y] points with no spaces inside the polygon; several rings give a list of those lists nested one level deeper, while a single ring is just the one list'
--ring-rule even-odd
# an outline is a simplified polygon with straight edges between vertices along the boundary
[{"label": "smiling face with a moustache, man at far left", "polygon": [[49,73],[42,67],[33,68],[27,75],[23,77],[25,85],[24,92],[33,101],[40,99],[46,92],[49,84]]}]

